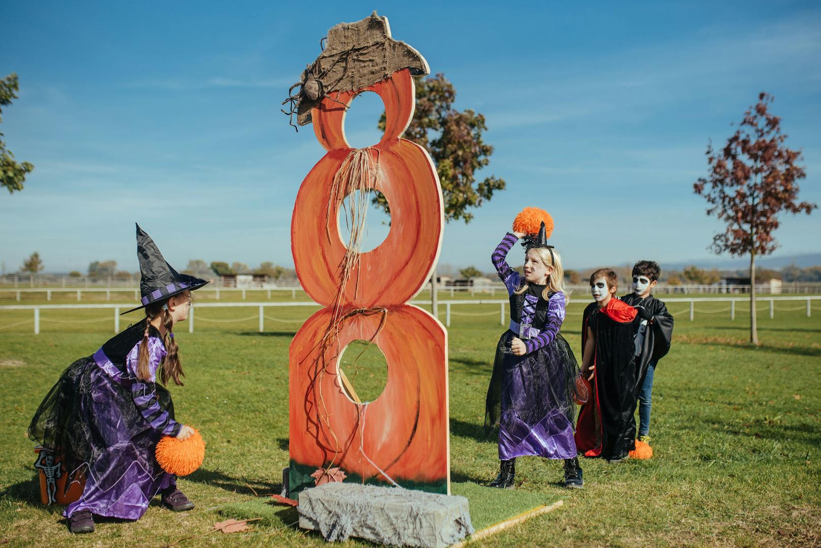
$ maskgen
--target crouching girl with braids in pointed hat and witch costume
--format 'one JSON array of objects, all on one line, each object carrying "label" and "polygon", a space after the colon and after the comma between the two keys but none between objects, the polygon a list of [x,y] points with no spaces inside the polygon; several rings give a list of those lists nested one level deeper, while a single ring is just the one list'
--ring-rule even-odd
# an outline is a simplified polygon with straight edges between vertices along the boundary
[{"label": "crouching girl with braids in pointed hat and witch costume", "polygon": [[194,508],[154,455],[162,436],[193,433],[174,420],[171,396],[158,381],[182,384],[172,329],[188,317],[190,292],[208,281],[177,273],[140,226],[137,254],[142,304],[134,310],[144,308],[144,320],[72,363],[28,431],[44,450],[62,455],[67,489],[85,477],[80,499],[63,512],[75,533],[94,531],[93,514],[138,519],[158,493],[172,510]]}]

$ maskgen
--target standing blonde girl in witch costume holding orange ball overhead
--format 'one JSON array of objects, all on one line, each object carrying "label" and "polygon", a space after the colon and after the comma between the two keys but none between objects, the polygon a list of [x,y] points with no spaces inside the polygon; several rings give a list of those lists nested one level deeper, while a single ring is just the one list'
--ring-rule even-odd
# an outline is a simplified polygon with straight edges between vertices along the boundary
[{"label": "standing blonde girl in witch costume holding orange ball overhead", "polygon": [[[491,256],[510,295],[510,328],[496,349],[485,403],[486,433],[498,427],[500,470],[491,486],[513,487],[516,458],[564,460],[564,486],[584,485],[573,439],[579,366],[559,333],[569,291],[559,253],[548,245],[553,218],[525,208]],[[524,276],[505,261],[516,241],[525,246]]]}]

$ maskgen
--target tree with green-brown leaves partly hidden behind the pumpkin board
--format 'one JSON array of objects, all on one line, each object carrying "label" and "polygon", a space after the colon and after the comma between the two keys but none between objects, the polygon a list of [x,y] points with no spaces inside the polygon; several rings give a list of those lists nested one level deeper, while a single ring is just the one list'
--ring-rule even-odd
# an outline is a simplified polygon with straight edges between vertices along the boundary
[{"label": "tree with green-brown leaves partly hidden behind the pumpkin board", "polygon": [[[442,73],[415,79],[416,107],[410,126],[402,135],[428,151],[436,166],[442,184],[445,221],[473,220],[473,208],[493,198],[493,193],[504,190],[505,181],[488,176],[476,182],[476,171],[490,163],[493,147],[482,139],[488,129],[484,116],[472,109],[453,108],[456,89]],[[379,119],[379,129],[385,130],[386,116]],[[374,204],[390,212],[383,194],[375,193]],[[436,313],[436,270],[431,276],[431,302]]]}]

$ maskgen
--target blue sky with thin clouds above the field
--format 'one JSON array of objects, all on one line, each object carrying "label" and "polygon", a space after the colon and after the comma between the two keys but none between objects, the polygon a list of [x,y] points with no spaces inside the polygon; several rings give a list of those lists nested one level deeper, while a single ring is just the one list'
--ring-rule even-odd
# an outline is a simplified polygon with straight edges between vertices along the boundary
[{"label": "blue sky with thin clouds above the field", "polygon": [[[24,191],[0,194],[7,272],[34,250],[49,272],[133,271],[134,221],[179,268],[292,266],[296,191],[323,149],[280,102],[331,26],[374,9],[452,81],[456,107],[487,117],[480,175],[507,180],[470,225],[447,225],[441,263],[490,270],[527,205],[553,215],[568,268],[714,258],[720,226],[692,183],[708,139],[722,144],[759,91],[803,148],[801,198],[821,203],[817,2],[311,5],[3,2],[0,75],[16,71],[21,91],[0,130],[35,165]],[[355,100],[352,143],[378,140],[379,112],[376,96]],[[819,212],[783,217],[777,254],[818,252],[819,229]]]}]

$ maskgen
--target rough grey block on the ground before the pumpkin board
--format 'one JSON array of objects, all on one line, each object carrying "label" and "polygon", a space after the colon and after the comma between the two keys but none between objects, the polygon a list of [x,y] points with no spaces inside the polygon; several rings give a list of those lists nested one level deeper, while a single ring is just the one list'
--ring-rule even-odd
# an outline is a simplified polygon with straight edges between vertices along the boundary
[{"label": "rough grey block on the ground before the pumpkin board", "polygon": [[326,541],[438,548],[473,534],[464,496],[336,482],[300,491],[299,500],[300,527]]}]

